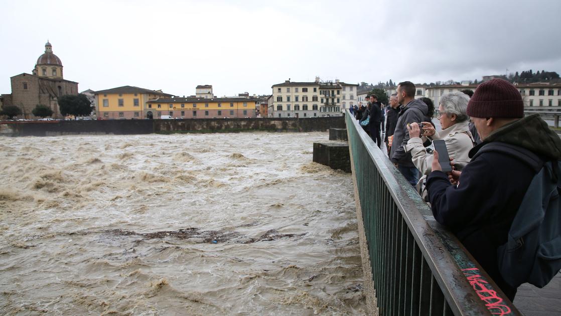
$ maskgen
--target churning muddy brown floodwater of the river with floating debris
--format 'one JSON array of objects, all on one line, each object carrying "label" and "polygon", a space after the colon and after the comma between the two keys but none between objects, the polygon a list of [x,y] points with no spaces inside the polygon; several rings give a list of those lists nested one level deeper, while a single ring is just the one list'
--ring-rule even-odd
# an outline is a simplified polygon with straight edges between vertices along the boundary
[{"label": "churning muddy brown floodwater of the river with floating debris", "polygon": [[327,138],[2,138],[0,314],[364,314]]}]

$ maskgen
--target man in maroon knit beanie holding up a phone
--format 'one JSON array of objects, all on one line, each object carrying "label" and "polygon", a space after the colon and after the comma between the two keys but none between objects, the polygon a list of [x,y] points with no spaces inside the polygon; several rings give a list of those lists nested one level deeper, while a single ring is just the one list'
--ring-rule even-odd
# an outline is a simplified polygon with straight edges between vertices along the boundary
[{"label": "man in maroon knit beanie holding up a phone", "polygon": [[443,173],[435,153],[433,172],[426,182],[431,208],[435,219],[456,234],[496,285],[514,300],[518,285],[505,281],[501,274],[498,248],[507,243],[514,216],[536,171],[505,152],[477,152],[502,142],[514,150],[531,152],[545,163],[561,158],[561,140],[539,114],[523,117],[520,92],[502,79],[481,83],[468,103],[467,114],[482,142],[472,148],[472,160],[461,173]]}]

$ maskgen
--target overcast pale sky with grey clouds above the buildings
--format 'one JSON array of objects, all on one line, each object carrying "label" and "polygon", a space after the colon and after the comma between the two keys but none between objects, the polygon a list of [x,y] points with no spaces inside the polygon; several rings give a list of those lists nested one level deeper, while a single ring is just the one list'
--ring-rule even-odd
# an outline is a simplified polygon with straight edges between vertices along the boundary
[{"label": "overcast pale sky with grey clouds above the buildings", "polygon": [[561,73],[561,1],[8,1],[0,93],[47,39],[80,91],[270,94],[271,85]]}]

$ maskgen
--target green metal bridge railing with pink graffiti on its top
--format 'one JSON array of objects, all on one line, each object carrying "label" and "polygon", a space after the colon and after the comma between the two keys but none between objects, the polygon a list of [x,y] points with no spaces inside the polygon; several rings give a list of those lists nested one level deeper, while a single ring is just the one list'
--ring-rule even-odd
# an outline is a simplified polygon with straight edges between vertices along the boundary
[{"label": "green metal bridge railing with pink graffiti on its top", "polygon": [[357,120],[345,117],[379,314],[518,315]]}]

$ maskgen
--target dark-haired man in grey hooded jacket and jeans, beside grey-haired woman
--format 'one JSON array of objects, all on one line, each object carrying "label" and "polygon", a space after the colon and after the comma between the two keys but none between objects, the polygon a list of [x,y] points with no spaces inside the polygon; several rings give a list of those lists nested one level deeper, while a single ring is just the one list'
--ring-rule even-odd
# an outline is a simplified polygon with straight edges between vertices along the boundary
[{"label": "dark-haired man in grey hooded jacket and jeans, beside grey-haired woman", "polygon": [[419,182],[419,170],[413,165],[411,153],[405,150],[409,140],[407,124],[423,122],[429,107],[421,100],[415,100],[415,85],[410,81],[397,86],[397,100],[402,105],[398,114],[396,131],[393,133],[390,159],[413,187]]}]

